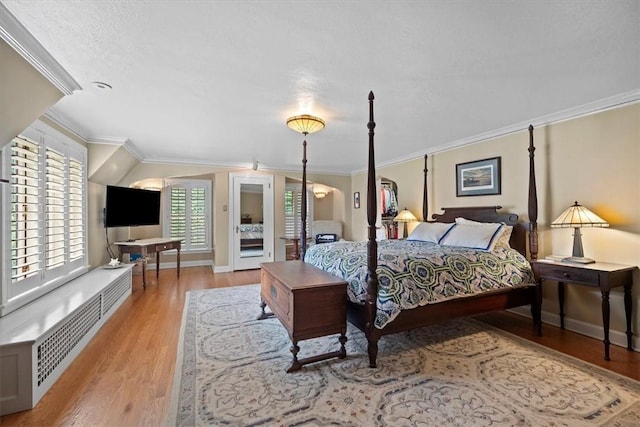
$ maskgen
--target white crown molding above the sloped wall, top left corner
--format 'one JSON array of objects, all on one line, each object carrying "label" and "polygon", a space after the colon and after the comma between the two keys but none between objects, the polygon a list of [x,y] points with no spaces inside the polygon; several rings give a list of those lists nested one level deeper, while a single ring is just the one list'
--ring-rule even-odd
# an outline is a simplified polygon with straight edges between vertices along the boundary
[{"label": "white crown molding above the sloped wall, top left corner", "polygon": [[80,84],[53,56],[31,35],[31,33],[0,3],[0,38],[18,52],[65,95],[82,90]]}]

